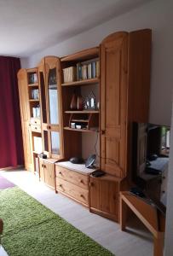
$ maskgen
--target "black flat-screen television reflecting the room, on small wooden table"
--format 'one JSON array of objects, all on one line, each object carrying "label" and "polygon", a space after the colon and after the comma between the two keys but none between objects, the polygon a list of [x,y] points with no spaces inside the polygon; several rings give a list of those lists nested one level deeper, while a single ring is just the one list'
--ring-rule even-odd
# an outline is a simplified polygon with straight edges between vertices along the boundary
[{"label": "black flat-screen television reflecting the room, on small wooden table", "polygon": [[132,183],[165,212],[170,127],[133,123]]}]

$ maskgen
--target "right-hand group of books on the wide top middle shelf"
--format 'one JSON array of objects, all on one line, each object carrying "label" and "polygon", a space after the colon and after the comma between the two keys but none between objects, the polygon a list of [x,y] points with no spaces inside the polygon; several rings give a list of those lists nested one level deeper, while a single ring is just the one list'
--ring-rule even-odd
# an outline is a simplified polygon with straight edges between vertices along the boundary
[{"label": "right-hand group of books on the wide top middle shelf", "polygon": [[100,76],[99,61],[84,61],[77,63],[77,81],[96,79]]}]

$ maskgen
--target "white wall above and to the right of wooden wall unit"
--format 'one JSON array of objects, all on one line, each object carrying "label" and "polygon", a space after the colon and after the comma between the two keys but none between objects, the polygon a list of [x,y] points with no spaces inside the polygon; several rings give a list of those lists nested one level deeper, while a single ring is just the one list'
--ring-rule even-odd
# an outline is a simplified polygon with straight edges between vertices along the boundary
[{"label": "white wall above and to the right of wooden wall unit", "polygon": [[150,96],[150,122],[170,125],[173,82],[173,1],[154,0],[141,8],[109,20],[100,26],[78,34],[61,44],[22,60],[23,67],[35,67],[44,55],[68,55],[80,49],[101,43],[116,31],[153,29],[152,78]]}]

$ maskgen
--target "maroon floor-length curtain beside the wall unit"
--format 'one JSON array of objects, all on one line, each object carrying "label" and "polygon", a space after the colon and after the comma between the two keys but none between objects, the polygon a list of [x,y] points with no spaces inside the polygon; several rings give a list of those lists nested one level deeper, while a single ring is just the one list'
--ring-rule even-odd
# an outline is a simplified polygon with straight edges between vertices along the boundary
[{"label": "maroon floor-length curtain beside the wall unit", "polygon": [[0,56],[0,168],[22,165],[17,72],[20,59]]}]

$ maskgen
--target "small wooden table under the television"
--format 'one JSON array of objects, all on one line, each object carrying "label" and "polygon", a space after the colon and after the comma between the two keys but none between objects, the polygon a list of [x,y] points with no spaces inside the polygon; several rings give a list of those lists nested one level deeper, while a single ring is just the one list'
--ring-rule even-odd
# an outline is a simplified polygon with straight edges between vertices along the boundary
[{"label": "small wooden table under the television", "polygon": [[120,193],[120,225],[125,230],[128,207],[153,234],[153,255],[162,256],[164,251],[164,215],[147,202],[131,195],[129,191]]}]

